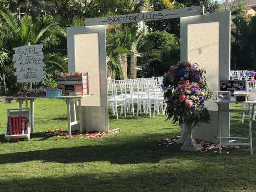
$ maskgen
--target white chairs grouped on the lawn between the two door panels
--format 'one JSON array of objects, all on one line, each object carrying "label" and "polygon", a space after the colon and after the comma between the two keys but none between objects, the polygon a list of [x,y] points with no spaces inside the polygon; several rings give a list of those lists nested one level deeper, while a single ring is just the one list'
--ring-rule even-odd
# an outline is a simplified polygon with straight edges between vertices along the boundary
[{"label": "white chairs grouped on the lawn between the two door panels", "polygon": [[118,119],[118,107],[120,115],[124,112],[132,113],[135,116],[135,107],[137,107],[137,116],[143,113],[151,117],[151,108],[153,116],[155,113],[165,113],[166,104],[164,101],[164,92],[162,91],[161,78],[144,79],[126,79],[108,81],[108,105],[113,116]]}]

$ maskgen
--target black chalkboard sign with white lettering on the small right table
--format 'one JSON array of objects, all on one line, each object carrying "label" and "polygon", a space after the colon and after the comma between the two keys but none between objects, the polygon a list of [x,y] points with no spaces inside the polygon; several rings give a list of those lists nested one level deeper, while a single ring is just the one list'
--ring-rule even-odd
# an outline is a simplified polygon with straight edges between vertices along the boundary
[{"label": "black chalkboard sign with white lettering on the small right table", "polygon": [[220,91],[230,91],[231,97],[239,90],[247,90],[246,80],[220,80]]}]

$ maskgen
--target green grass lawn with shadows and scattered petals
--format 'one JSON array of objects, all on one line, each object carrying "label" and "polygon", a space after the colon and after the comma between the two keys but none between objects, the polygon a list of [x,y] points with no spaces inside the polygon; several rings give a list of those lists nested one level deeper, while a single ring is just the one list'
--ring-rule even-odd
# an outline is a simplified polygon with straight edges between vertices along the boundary
[{"label": "green grass lawn with shadows and scattered petals", "polygon": [[[111,129],[121,129],[117,136],[69,140],[35,133],[30,141],[6,143],[6,109],[17,106],[0,105],[0,192],[256,191],[256,155],[249,147],[220,155],[159,145],[158,139],[180,135],[165,116],[110,116]],[[36,100],[34,107],[35,132],[67,129],[64,101]],[[246,136],[248,119],[241,125],[235,114],[231,127]],[[255,126],[252,134],[256,153]]]}]

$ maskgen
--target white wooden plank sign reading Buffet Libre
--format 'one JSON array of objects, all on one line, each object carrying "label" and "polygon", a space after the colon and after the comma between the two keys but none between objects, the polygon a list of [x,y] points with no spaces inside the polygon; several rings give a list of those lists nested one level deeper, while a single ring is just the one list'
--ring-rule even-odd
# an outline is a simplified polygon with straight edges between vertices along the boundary
[{"label": "white wooden plank sign reading Buffet Libre", "polygon": [[14,68],[17,82],[40,82],[43,81],[43,45],[30,45],[15,47],[15,54],[12,61],[15,61]]}]

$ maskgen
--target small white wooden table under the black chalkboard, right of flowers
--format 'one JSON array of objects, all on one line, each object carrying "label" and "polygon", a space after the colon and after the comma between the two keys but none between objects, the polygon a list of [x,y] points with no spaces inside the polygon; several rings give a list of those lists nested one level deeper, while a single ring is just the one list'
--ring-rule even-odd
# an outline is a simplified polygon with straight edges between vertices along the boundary
[{"label": "small white wooden table under the black chalkboard, right of flowers", "polygon": [[[221,154],[221,145],[240,145],[240,146],[250,146],[251,155],[252,155],[252,115],[251,115],[251,107],[254,109],[256,105],[256,101],[246,101],[246,102],[236,102],[235,98],[231,98],[230,101],[217,101],[214,100],[215,103],[218,105],[218,119],[217,119],[217,130],[219,131],[219,153]],[[242,103],[248,104],[248,110],[221,110],[220,105],[222,103]],[[228,111],[229,113],[248,113],[249,114],[249,137],[221,137],[221,130],[222,126],[219,126],[219,114],[221,111]],[[222,139],[229,139],[229,140],[238,140],[238,139],[248,139],[249,143],[238,143],[238,142],[222,142]]]}]

